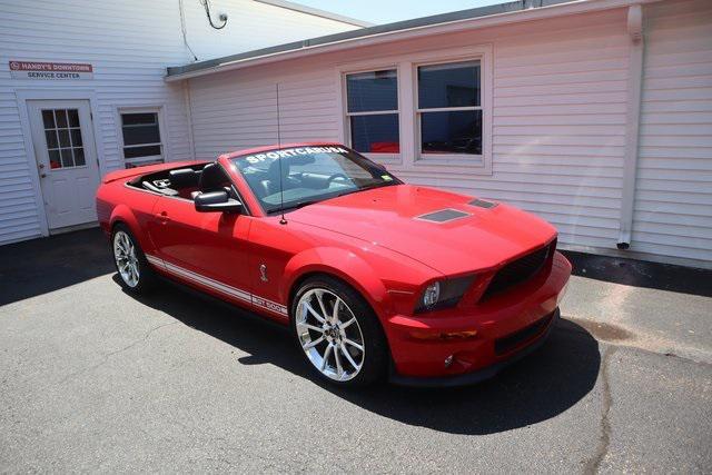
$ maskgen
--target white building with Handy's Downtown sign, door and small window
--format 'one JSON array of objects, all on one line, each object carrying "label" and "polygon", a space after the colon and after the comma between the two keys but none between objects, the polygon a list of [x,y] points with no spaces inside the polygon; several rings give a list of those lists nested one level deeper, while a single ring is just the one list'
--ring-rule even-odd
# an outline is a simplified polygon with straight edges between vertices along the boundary
[{"label": "white building with Handy's Downtown sign, door and small window", "polygon": [[224,28],[199,0],[0,0],[0,244],[95,221],[107,171],[192,157],[188,90],[166,67],[364,26],[284,1],[209,6]]}]

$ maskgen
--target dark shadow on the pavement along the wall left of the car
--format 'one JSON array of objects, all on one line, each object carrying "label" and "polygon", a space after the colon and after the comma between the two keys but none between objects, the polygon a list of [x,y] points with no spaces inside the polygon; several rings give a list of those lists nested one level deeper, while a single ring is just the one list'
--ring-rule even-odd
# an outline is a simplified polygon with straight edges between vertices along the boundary
[{"label": "dark shadow on the pavement along the wall left of the car", "polygon": [[0,305],[115,271],[99,228],[0,246]]}]

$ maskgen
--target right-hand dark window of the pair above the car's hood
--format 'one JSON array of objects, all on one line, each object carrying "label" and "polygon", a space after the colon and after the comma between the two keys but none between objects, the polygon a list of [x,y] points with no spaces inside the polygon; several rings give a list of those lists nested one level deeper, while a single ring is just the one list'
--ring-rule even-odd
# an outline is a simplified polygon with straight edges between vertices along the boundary
[{"label": "right-hand dark window of the pair above the car's hood", "polygon": [[421,66],[417,117],[423,155],[482,155],[479,61]]}]

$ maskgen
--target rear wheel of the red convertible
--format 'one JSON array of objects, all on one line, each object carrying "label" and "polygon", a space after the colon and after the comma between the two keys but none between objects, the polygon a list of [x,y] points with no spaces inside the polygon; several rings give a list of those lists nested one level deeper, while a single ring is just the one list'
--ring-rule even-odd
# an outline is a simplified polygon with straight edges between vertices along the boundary
[{"label": "rear wheel of the red convertible", "polygon": [[119,284],[134,294],[147,291],[154,284],[154,273],[138,241],[125,225],[118,224],[111,235],[113,263]]}]

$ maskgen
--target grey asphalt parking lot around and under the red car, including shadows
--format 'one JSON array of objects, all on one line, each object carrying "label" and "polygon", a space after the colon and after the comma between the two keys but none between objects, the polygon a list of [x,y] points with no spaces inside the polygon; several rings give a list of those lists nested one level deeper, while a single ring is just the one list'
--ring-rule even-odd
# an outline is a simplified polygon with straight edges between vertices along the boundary
[{"label": "grey asphalt parking lot around and under the red car, including shadows", "polygon": [[0,248],[0,472],[712,468],[710,297],[575,277],[500,377],[357,393],[279,328],[115,279],[96,229]]}]

